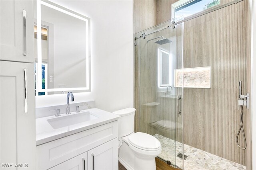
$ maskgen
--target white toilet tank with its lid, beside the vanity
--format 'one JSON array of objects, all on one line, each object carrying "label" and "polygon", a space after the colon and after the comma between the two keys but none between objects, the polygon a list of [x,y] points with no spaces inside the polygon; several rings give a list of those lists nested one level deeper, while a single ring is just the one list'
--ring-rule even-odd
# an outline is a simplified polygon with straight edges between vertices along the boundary
[{"label": "white toilet tank with its lid, beside the vanity", "polygon": [[124,137],[134,132],[134,108],[126,108],[113,113],[121,116],[118,119],[118,137]]}]

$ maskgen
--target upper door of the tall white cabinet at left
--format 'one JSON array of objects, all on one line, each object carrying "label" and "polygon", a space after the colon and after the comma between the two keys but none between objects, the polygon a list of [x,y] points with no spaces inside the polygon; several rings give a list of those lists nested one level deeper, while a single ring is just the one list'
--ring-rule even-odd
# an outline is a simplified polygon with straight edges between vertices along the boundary
[{"label": "upper door of the tall white cabinet at left", "polygon": [[0,0],[0,60],[34,62],[33,2]]}]

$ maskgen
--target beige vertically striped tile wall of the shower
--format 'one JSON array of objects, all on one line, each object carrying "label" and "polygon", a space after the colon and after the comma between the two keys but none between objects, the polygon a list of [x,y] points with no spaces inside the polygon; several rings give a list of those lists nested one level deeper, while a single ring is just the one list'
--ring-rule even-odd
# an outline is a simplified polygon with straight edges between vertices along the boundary
[{"label": "beige vertically striped tile wall of the shower", "polygon": [[[171,4],[174,2],[176,1],[135,0],[134,33],[170,20]],[[145,3],[152,3],[154,6],[142,12],[140,7],[144,8]],[[239,149],[236,145],[236,133],[240,126],[238,81],[243,81],[243,93],[248,92],[246,87],[249,81],[246,67],[250,65],[247,47],[250,44],[247,29],[250,23],[247,22],[247,6],[247,1],[244,0],[184,22],[183,46],[184,68],[211,66],[210,89],[184,88],[184,143],[243,165],[246,165],[246,151],[250,150],[250,146],[245,151]],[[148,16],[152,14],[151,12],[155,17]],[[152,21],[153,19],[155,20]],[[147,20],[144,21],[147,25],[140,20]],[[136,61],[138,58],[135,55],[135,107],[137,107],[135,128],[139,131],[138,119],[141,113],[139,94],[141,93],[138,88]],[[246,132],[247,114],[248,111],[244,108]],[[239,141],[242,143],[241,136]]]}]

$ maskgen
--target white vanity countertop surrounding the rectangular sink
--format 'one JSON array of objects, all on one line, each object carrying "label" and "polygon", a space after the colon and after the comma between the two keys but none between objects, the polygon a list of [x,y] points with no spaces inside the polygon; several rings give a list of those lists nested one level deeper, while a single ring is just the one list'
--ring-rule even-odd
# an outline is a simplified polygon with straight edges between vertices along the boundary
[{"label": "white vanity countertop surrounding the rectangular sink", "polygon": [[[47,119],[58,118],[55,115],[48,117],[41,117],[36,119],[36,146],[42,145],[44,143],[60,139],[81,131],[85,131],[112,121],[116,121],[120,116],[104,111],[97,108],[80,110],[79,113],[90,111],[98,117],[98,119],[93,119],[90,121],[84,121],[82,123],[77,123],[74,125],[54,129]],[[78,114],[76,112],[71,112],[70,115]],[[65,113],[61,114],[61,117],[68,116]]]}]

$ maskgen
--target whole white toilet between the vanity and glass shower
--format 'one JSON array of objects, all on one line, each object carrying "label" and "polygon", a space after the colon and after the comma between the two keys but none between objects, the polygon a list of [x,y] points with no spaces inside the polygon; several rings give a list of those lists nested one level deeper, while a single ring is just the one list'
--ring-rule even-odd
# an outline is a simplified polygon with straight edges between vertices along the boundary
[{"label": "whole white toilet between the vanity and glass shower", "polygon": [[128,170],[156,170],[155,158],[162,147],[158,139],[147,133],[134,133],[134,108],[113,113],[118,119],[119,161]]}]

